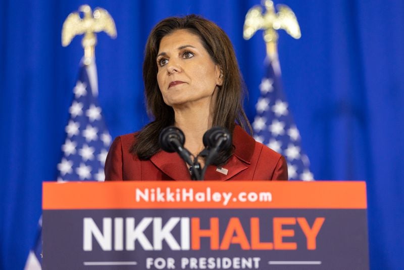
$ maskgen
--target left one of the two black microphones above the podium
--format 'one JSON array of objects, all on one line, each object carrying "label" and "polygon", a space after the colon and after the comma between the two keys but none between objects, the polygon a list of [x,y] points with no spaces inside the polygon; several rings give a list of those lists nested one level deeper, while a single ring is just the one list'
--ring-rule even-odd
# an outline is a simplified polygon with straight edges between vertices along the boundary
[{"label": "left one of the two black microphones above the podium", "polygon": [[192,166],[191,154],[184,148],[185,136],[181,129],[175,126],[163,128],[160,132],[159,143],[164,151],[177,152],[186,163]]}]

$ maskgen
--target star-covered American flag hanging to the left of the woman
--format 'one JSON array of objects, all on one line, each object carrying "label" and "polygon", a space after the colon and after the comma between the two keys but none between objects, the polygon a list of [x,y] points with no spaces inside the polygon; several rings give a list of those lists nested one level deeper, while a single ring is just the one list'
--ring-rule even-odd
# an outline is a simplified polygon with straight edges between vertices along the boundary
[{"label": "star-covered American flag hanging to the left of the woman", "polygon": [[[66,140],[62,145],[63,157],[57,165],[58,181],[104,181],[104,164],[111,136],[98,104],[97,74],[94,60],[81,64],[74,98],[69,108],[70,119],[65,128]],[[26,270],[41,269],[42,222],[35,247],[30,251]]]}]

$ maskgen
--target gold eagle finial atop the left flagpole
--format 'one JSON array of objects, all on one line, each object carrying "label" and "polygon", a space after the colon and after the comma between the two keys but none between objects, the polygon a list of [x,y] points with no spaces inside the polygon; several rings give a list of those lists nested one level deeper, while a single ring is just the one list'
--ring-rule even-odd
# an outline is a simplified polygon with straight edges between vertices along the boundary
[{"label": "gold eagle finial atop the left flagpole", "polygon": [[91,13],[88,5],[80,6],[79,11],[82,12],[83,18],[78,12],[72,12],[67,16],[62,28],[62,45],[66,47],[70,44],[76,35],[84,34],[81,44],[84,48],[84,59],[94,57],[94,47],[97,43],[97,32],[105,31],[112,38],[116,38],[117,29],[114,19],[102,8],[96,8]]}]

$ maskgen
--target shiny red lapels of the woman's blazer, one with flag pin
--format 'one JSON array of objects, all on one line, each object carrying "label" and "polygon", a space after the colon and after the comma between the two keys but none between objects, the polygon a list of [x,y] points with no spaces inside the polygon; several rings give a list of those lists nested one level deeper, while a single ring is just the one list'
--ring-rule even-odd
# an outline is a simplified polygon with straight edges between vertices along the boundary
[{"label": "shiny red lapels of the woman's blazer, one with flag pin", "polygon": [[[239,125],[236,125],[234,128],[233,146],[234,153],[226,164],[223,165],[222,169],[215,165],[208,167],[205,174],[206,180],[225,181],[248,168],[252,154],[254,153],[255,140]],[[153,155],[150,161],[172,179],[191,179],[188,167],[177,153],[160,151]]]}]

